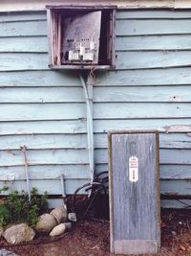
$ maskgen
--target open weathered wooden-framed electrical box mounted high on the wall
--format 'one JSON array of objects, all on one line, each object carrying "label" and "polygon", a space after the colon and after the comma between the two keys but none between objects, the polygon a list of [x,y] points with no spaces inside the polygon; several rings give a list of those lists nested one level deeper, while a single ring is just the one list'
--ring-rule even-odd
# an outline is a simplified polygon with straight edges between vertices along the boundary
[{"label": "open weathered wooden-framed electrical box mounted high on the wall", "polygon": [[52,69],[114,69],[117,6],[47,6]]}]

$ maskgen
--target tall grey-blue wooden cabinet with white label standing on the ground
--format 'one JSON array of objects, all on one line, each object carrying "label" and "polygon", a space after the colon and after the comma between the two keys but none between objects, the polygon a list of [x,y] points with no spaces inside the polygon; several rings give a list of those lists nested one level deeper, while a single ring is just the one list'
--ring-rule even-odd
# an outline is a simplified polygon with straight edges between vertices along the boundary
[{"label": "tall grey-blue wooden cabinet with white label standing on the ground", "polygon": [[160,246],[158,131],[108,133],[111,252],[157,253]]}]

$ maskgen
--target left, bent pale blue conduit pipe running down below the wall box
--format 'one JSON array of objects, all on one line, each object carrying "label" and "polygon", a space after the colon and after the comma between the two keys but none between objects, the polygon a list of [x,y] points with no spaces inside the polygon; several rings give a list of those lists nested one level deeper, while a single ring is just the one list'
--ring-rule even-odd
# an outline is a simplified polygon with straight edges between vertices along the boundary
[{"label": "left, bent pale blue conduit pipe running down below the wall box", "polygon": [[87,84],[84,78],[79,74],[80,81],[83,86],[84,95],[86,99],[86,109],[87,109],[87,136],[88,136],[88,153],[89,153],[89,166],[91,172],[91,183],[95,176],[95,157],[94,157],[94,129],[93,129],[93,114],[91,109],[92,98],[90,97],[87,89]]}]

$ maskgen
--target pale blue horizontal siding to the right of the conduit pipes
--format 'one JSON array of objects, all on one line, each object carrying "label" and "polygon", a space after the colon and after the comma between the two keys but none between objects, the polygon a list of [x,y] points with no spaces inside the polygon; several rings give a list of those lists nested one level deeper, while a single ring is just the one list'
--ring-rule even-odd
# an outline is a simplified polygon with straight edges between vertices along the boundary
[{"label": "pale blue horizontal siding to the right of the conduit pipes", "polygon": [[[117,12],[117,71],[96,80],[96,131],[159,129],[162,194],[191,194],[190,24],[191,12]],[[100,171],[107,170],[101,145]]]}]

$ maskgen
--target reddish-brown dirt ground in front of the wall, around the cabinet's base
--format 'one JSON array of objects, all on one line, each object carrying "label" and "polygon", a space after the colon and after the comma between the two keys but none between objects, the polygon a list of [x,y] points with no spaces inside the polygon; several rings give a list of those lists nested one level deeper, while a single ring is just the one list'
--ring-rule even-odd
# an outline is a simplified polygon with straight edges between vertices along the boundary
[{"label": "reddish-brown dirt ground in front of the wall, around the cabinet's base", "polygon": [[[36,237],[31,244],[10,246],[1,239],[0,247],[20,256],[113,255],[109,252],[109,221],[96,220],[76,223],[61,237]],[[157,255],[191,255],[191,210],[161,211],[161,250]]]}]

